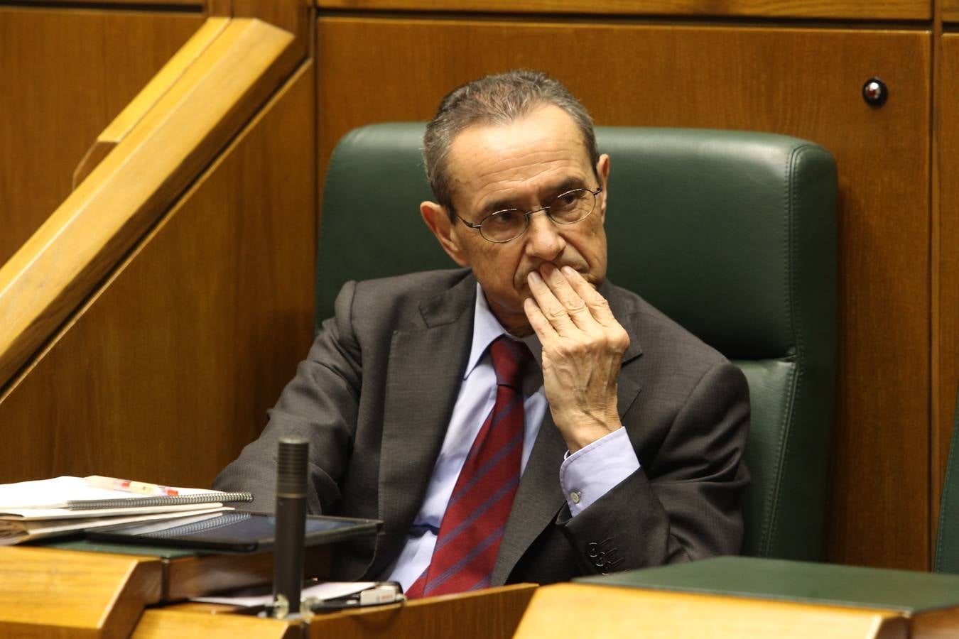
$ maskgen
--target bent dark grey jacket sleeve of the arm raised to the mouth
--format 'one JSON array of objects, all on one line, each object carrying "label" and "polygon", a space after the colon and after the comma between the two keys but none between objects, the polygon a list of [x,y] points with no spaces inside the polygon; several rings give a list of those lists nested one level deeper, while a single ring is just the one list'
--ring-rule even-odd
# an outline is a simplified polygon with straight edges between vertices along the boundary
[{"label": "bent dark grey jacket sleeve of the arm raised to the mouth", "polygon": [[[650,461],[576,517],[567,507],[559,514],[557,524],[583,572],[739,553],[748,429],[745,377],[728,362],[713,366],[692,388]],[[642,451],[637,455],[643,460]]]}]

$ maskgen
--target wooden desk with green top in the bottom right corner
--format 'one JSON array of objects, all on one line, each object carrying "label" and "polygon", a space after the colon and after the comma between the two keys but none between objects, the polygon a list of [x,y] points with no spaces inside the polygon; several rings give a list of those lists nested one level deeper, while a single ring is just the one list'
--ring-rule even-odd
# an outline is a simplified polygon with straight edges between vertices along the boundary
[{"label": "wooden desk with green top in the bottom right corner", "polygon": [[519,639],[959,637],[959,576],[719,557],[540,588]]}]

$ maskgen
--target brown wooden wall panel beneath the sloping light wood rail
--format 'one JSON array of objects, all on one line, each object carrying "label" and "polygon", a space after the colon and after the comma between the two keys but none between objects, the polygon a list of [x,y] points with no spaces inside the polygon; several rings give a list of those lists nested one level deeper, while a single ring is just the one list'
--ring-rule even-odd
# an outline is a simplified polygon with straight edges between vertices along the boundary
[{"label": "brown wooden wall panel beneath the sloping light wood rail", "polygon": [[208,486],[313,339],[313,69],[207,171],[0,402],[0,483]]}]

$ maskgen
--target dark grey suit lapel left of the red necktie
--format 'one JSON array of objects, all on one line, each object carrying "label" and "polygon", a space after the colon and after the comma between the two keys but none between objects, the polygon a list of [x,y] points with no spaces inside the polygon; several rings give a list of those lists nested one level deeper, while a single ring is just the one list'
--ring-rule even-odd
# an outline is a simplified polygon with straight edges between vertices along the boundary
[{"label": "dark grey suit lapel left of the red necktie", "polygon": [[426,328],[395,331],[389,351],[380,456],[381,557],[400,548],[426,494],[473,335],[476,280],[423,301]]}]

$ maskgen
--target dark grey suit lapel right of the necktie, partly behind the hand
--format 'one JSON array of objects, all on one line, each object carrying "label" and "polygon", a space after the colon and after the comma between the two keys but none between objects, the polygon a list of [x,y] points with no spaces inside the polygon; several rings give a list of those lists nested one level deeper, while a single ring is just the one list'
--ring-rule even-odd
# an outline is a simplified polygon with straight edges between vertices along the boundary
[{"label": "dark grey suit lapel right of the necktie, partly behind the hand", "polygon": [[[636,326],[631,321],[629,309],[625,308],[619,290],[607,283],[599,288],[599,292],[609,300],[613,314],[629,333],[629,348],[622,357],[617,389],[617,411],[622,419],[642,387],[637,376],[623,373],[628,373],[627,366],[643,354],[643,349],[640,347]],[[523,557],[536,537],[555,521],[566,503],[566,497],[559,485],[559,468],[563,464],[566,451],[566,442],[552,421],[548,409],[516,491],[513,508],[503,533],[500,554],[493,568],[491,585],[502,585],[509,579],[517,561]]]}]

